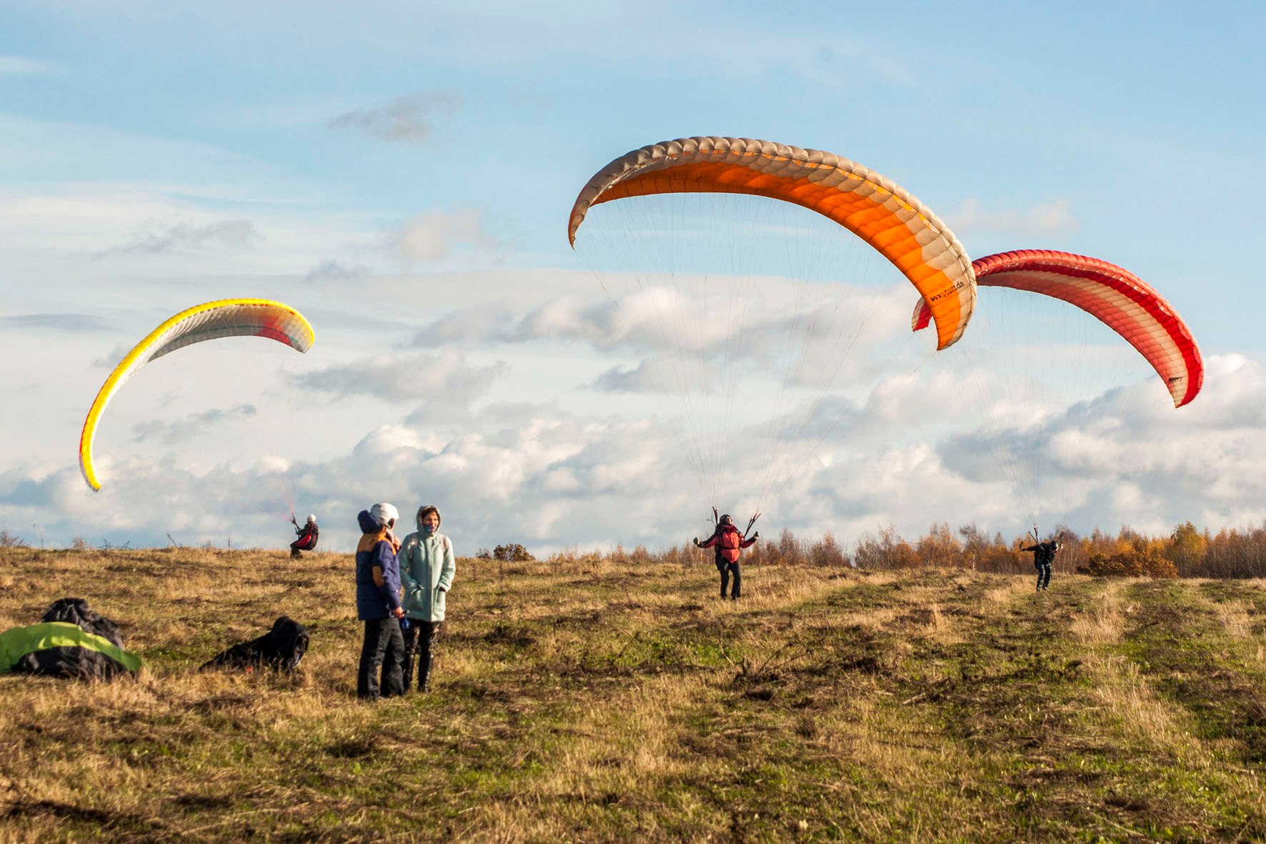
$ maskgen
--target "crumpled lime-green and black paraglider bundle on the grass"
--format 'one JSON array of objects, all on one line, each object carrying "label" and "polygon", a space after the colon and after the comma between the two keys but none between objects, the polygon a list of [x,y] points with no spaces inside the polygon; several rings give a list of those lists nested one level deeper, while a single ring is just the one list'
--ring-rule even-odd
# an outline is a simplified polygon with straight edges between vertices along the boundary
[{"label": "crumpled lime-green and black paraglider bundle on the grass", "polygon": [[82,598],[62,598],[41,623],[0,634],[0,672],[114,679],[141,669],[141,658],[123,650],[119,626]]}]

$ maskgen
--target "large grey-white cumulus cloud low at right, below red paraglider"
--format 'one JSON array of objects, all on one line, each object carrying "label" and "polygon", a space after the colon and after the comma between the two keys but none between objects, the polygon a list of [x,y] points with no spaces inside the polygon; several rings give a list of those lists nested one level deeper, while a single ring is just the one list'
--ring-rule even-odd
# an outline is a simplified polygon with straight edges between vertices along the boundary
[{"label": "large grey-white cumulus cloud low at right, below red paraglider", "polygon": [[1180,409],[1156,393],[1151,381],[1113,389],[1029,427],[947,437],[938,452],[955,474],[1003,480],[1024,506],[1074,526],[1161,531],[1266,517],[1261,365],[1210,357],[1201,394]]}]

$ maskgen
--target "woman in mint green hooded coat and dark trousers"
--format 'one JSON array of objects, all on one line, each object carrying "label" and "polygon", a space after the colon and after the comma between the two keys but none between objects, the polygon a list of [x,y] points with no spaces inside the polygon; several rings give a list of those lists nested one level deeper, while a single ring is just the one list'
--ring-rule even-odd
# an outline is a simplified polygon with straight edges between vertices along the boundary
[{"label": "woman in mint green hooded coat and dark trousers", "polygon": [[413,682],[413,656],[418,655],[418,691],[430,691],[430,665],[436,640],[444,622],[444,599],[453,585],[457,564],[453,544],[439,532],[439,509],[418,508],[418,531],[400,546],[400,583],[404,585],[404,687]]}]

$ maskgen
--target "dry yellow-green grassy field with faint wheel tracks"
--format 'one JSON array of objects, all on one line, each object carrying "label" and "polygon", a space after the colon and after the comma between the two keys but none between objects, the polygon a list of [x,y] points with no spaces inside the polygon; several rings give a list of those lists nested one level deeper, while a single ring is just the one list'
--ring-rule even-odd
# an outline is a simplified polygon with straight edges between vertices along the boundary
[{"label": "dry yellow-green grassy field with faint wheel tracks", "polygon": [[[135,679],[0,675],[0,839],[1263,840],[1260,580],[461,560],[434,691],[354,698],[351,560],[0,550]],[[199,673],[279,615],[294,677]]]}]

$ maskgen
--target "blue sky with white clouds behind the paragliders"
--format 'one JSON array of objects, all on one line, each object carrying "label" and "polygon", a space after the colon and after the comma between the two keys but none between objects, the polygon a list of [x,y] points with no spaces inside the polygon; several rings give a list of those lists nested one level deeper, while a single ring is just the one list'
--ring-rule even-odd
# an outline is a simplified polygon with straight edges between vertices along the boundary
[{"label": "blue sky with white clouds behind the paragliders", "polygon": [[[1260,4],[443,5],[0,0],[0,528],[282,547],[314,513],[348,551],[387,501],[406,523],[437,504],[460,554],[548,555],[680,544],[711,504],[846,544],[1266,521]],[[620,272],[586,229],[568,246],[594,172],[703,134],[858,161],[974,257],[1128,267],[1198,338],[1203,393],[1175,411],[1146,370],[1091,379],[1072,347],[1103,337],[1051,340],[1055,374],[1003,371],[1024,355],[971,327],[941,360],[886,329],[913,302],[882,267],[798,286],[753,260],[734,312]],[[227,297],[298,308],[316,343],[154,361],[105,414],[91,492],[78,433],[110,369]],[[770,338],[805,297],[847,303],[823,324],[848,357],[806,333],[832,378],[780,380]],[[672,395],[684,347],[729,369]]]}]

